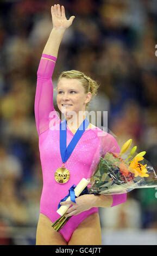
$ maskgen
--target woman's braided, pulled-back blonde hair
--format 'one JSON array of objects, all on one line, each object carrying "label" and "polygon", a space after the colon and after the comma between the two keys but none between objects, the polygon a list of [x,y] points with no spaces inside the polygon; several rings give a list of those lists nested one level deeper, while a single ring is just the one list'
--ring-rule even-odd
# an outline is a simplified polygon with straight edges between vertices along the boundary
[{"label": "woman's braided, pulled-back blonde hair", "polygon": [[[78,70],[63,71],[61,72],[58,81],[63,77],[70,79],[78,79],[84,87],[85,94],[90,92],[92,98],[97,95],[98,88],[100,85],[95,80],[92,80],[91,77],[86,76],[83,72],[80,72]],[[88,107],[89,103],[90,102],[86,103],[86,107]]]}]

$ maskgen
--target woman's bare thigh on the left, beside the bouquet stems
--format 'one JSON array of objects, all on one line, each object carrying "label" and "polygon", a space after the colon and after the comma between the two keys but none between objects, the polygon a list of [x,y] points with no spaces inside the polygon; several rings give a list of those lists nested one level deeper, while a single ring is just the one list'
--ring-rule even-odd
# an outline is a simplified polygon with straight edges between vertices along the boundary
[{"label": "woman's bare thigh on the left, beside the bouquet stems", "polygon": [[36,245],[67,245],[62,235],[54,230],[52,222],[43,214],[39,215],[36,229]]}]

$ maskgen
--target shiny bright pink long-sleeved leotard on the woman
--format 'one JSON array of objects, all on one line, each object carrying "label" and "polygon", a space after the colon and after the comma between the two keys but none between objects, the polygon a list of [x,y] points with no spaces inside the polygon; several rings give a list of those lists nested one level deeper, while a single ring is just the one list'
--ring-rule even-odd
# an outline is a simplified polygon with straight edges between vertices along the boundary
[{"label": "shiny bright pink long-sleeved leotard on the woman", "polygon": [[[100,152],[120,151],[116,139],[109,133],[102,131],[98,127],[95,129],[87,128],[65,163],[66,168],[70,170],[70,179],[65,184],[59,184],[55,181],[54,172],[62,164],[59,129],[56,129],[61,120],[53,106],[52,74],[55,62],[56,57],[42,54],[37,70],[34,106],[43,175],[40,213],[47,216],[52,222],[60,217],[56,210],[58,210],[60,200],[68,194],[69,188],[72,185],[77,185],[82,178],[90,178],[92,169],[98,163]],[[56,121],[54,122],[53,120]],[[104,136],[99,136],[102,132]],[[67,127],[67,146],[72,138],[73,133]],[[121,204],[125,202],[126,194],[114,195],[113,199],[112,206]],[[73,215],[59,231],[60,234],[68,242],[78,225],[87,216],[95,212],[98,212],[98,208],[91,208],[90,210],[81,212],[79,215]]]}]

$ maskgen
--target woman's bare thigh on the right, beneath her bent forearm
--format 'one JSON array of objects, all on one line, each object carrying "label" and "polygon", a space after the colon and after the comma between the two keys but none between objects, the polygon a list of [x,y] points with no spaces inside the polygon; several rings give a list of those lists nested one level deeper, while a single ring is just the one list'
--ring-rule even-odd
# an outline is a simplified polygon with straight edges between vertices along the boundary
[{"label": "woman's bare thigh on the right, beneath her bent forearm", "polygon": [[91,214],[78,225],[68,245],[102,245],[101,224],[98,213]]}]

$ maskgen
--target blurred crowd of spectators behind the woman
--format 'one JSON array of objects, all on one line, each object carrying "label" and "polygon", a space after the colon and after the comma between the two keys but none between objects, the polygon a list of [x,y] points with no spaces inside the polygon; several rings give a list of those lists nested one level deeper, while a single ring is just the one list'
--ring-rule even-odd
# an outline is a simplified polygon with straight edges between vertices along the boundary
[{"label": "blurred crowd of spectators behind the woman", "polygon": [[[36,72],[52,29],[51,5],[58,3],[76,19],[60,46],[54,86],[71,69],[98,81],[89,110],[108,111],[108,128],[118,141],[132,138],[157,169],[157,1],[1,0],[1,245],[35,244],[42,191]],[[126,203],[99,208],[99,214],[103,245],[157,244],[155,188],[134,190]]]}]

